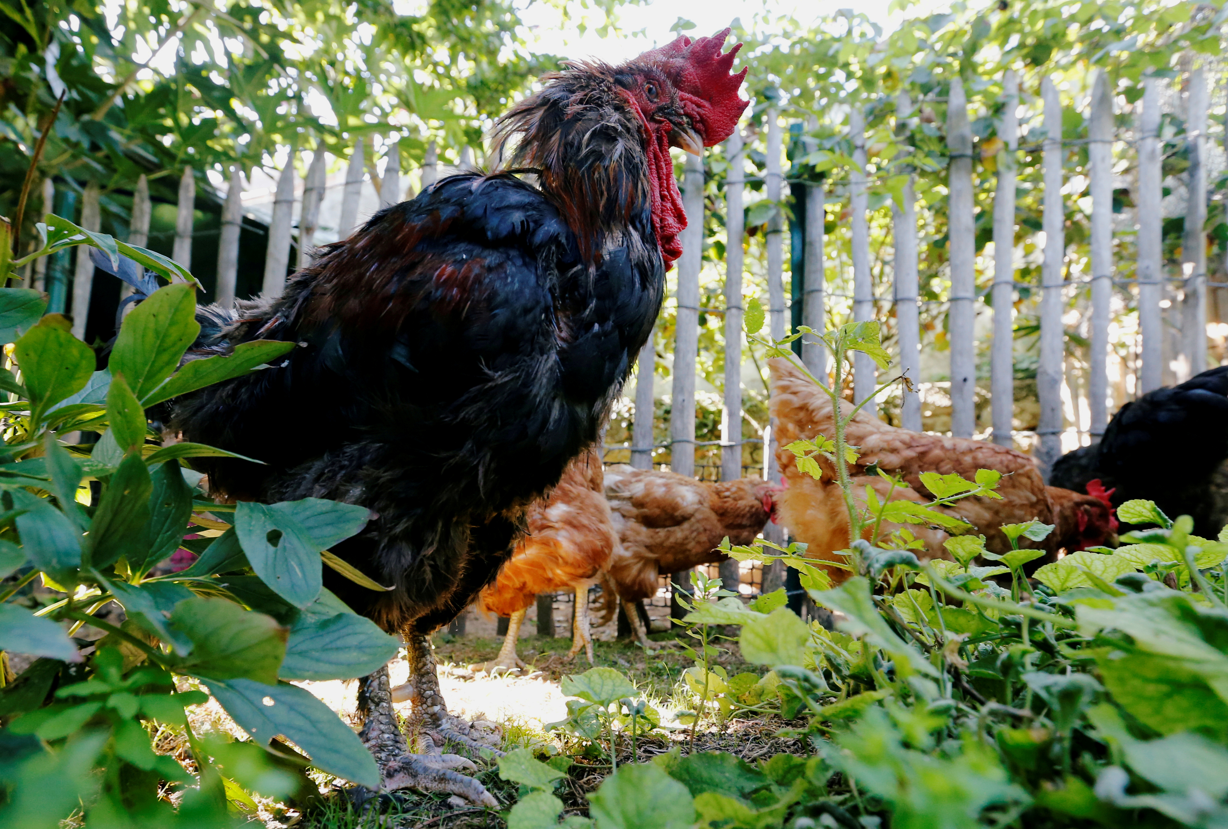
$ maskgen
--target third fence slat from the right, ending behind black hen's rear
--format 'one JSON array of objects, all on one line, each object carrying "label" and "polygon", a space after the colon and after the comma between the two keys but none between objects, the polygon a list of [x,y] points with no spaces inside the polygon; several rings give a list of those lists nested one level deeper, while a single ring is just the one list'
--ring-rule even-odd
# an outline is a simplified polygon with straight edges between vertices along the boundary
[{"label": "third fence slat from the right, ending behind black hen's rear", "polygon": [[1092,167],[1092,346],[1088,410],[1092,442],[1109,424],[1109,319],[1113,300],[1113,90],[1099,70],[1092,85],[1088,160]]}]

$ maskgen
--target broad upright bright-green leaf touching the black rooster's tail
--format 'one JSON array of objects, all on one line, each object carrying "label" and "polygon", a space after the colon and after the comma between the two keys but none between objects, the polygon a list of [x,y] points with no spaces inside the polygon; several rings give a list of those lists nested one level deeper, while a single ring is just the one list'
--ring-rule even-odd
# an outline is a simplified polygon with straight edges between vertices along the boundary
[{"label": "broad upright bright-green leaf touching the black rooster's tail", "polygon": [[200,333],[196,292],[179,282],[158,289],[124,318],[111,352],[111,373],[123,375],[145,405],[150,392],[171,376]]}]

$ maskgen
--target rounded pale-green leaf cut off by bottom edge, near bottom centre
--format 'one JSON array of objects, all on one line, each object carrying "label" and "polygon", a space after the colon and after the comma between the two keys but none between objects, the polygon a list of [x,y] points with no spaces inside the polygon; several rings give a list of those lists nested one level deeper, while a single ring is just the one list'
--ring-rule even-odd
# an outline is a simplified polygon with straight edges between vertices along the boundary
[{"label": "rounded pale-green leaf cut off by bottom edge, near bottom centre", "polygon": [[695,801],[659,766],[623,765],[588,796],[597,829],[689,829]]}]

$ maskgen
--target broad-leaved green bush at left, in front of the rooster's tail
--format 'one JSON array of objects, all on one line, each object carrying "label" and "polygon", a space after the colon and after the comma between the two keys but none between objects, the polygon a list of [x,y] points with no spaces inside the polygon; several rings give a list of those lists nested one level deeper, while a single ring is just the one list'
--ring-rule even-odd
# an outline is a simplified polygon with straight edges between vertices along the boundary
[{"label": "broad-leaved green bush at left, in front of the rooster's tail", "polygon": [[[16,371],[0,368],[0,576],[16,580],[0,593],[0,651],[38,657],[0,688],[0,825],[55,827],[77,809],[91,827],[223,825],[227,802],[254,806],[244,790],[309,792],[308,765],[378,786],[354,731],[287,682],[361,677],[397,651],[321,582],[323,555],[377,587],[322,553],[359,532],[367,511],[317,499],[216,505],[194,491],[188,467],[227,453],[160,446],[146,420],[149,407],[258,371],[293,344],[248,343],[181,367],[199,333],[190,274],[56,216],[39,231],[41,251],[0,263],[6,278],[34,257],[88,244],[171,284],[124,319],[102,371],[66,318],[44,316],[39,292],[0,289],[0,339],[12,343]],[[9,247],[0,225],[0,251]],[[101,438],[66,443],[75,431]],[[154,575],[179,548],[199,559]],[[38,578],[64,597],[33,609],[25,587]],[[124,608],[118,626],[95,615],[109,602]],[[71,634],[84,624],[106,636],[82,647]],[[251,742],[193,732],[185,710],[209,694],[176,689],[198,684]],[[185,736],[194,771],[155,753],[151,733],[163,727]]]}]

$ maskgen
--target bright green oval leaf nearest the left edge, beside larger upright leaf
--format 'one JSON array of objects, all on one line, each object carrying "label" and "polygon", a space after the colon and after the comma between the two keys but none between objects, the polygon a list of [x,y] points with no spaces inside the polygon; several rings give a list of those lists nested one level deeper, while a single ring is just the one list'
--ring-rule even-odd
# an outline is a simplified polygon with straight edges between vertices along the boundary
[{"label": "bright green oval leaf nearest the left edge, beside larger upright leaf", "polygon": [[81,391],[93,376],[93,350],[72,337],[70,328],[60,314],[48,314],[14,345],[36,422],[52,405]]}]

